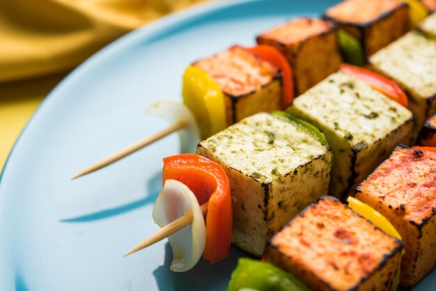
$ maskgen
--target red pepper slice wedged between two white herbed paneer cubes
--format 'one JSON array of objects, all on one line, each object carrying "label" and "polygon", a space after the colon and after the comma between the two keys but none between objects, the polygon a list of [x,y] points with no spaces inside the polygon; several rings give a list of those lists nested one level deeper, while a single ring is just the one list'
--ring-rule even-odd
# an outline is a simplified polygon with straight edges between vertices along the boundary
[{"label": "red pepper slice wedged between two white herbed paneer cubes", "polygon": [[408,106],[407,96],[394,81],[380,76],[380,74],[376,74],[370,70],[355,67],[354,65],[342,64],[340,70],[341,72],[345,72],[345,74],[350,74],[353,77],[364,81],[368,86],[380,91],[391,100],[396,101],[404,107]]}]

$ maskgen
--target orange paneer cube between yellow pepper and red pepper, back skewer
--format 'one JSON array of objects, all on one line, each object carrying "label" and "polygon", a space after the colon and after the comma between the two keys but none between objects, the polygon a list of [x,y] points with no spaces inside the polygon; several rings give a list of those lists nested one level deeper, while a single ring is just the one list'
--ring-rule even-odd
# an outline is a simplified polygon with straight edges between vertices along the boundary
[{"label": "orange paneer cube between yellow pepper and red pepper, back skewer", "polygon": [[260,111],[281,109],[281,74],[242,47],[203,58],[193,64],[208,74],[224,93],[227,124]]}]

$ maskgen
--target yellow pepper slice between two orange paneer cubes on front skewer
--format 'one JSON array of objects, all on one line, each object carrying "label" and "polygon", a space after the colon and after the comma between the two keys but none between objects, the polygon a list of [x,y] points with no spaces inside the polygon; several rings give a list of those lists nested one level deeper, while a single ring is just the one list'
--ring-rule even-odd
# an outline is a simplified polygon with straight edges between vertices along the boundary
[{"label": "yellow pepper slice between two orange paneer cubes on front skewer", "polygon": [[[351,196],[347,198],[347,201],[348,201],[348,207],[350,207],[352,210],[355,210],[355,212],[360,214],[362,217],[371,221],[375,226],[377,226],[377,228],[380,228],[382,231],[384,231],[384,233],[396,237],[397,239],[403,240],[401,238],[400,233],[398,233],[398,231],[396,230],[396,228],[394,228],[392,223],[386,217],[384,217],[380,212],[375,210],[373,207]],[[404,249],[402,255],[403,254],[404,254]],[[398,263],[394,281],[392,282],[391,291],[397,290],[398,285],[400,285],[400,266],[401,266],[401,258],[400,258],[400,262]]]}]

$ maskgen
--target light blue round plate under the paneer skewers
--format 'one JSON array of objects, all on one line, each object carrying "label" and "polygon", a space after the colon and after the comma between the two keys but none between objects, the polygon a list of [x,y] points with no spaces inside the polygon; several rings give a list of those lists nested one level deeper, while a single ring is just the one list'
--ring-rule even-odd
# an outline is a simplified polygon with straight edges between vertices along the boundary
[{"label": "light blue round plate under the paneer skewers", "polygon": [[[159,242],[123,258],[158,228],[151,218],[169,136],[72,182],[86,166],[166,124],[144,110],[180,100],[192,61],[337,1],[220,1],[164,17],[120,38],[72,72],[24,129],[1,175],[0,290],[225,290],[240,256],[169,271]],[[414,290],[429,290],[436,274]]]}]

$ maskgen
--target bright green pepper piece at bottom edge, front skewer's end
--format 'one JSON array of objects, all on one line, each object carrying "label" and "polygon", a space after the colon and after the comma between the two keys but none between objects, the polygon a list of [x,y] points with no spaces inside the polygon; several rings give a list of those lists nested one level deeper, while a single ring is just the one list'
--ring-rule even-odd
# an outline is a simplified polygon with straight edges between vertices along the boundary
[{"label": "bright green pepper piece at bottom edge, front skewer's end", "polygon": [[227,291],[309,291],[295,276],[275,267],[269,262],[240,258],[232,273]]}]

